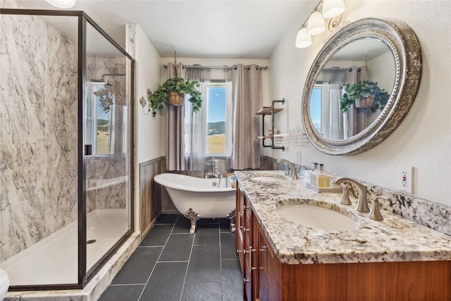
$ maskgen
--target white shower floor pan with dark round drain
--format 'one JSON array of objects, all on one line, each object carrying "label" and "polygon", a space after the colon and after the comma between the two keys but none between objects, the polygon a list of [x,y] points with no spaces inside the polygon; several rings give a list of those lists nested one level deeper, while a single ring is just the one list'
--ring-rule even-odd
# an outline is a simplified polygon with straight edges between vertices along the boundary
[{"label": "white shower floor pan with dark round drain", "polygon": [[[97,209],[87,215],[87,269],[128,231],[125,209]],[[78,282],[78,223],[73,222],[1,263],[10,285]]]}]

